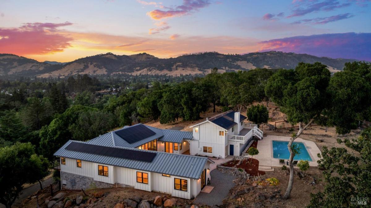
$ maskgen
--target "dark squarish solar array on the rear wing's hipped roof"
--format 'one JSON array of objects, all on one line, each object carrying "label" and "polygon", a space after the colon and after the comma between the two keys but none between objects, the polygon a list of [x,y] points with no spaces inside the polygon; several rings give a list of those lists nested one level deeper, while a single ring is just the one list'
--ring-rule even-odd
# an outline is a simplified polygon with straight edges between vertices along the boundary
[{"label": "dark squarish solar array on the rear wing's hipped roof", "polygon": [[151,137],[156,134],[154,131],[150,130],[149,128],[142,124],[124,128],[122,130],[115,131],[115,133],[119,135],[121,138],[123,138],[125,141],[127,141],[129,144],[140,141],[147,137]]}]

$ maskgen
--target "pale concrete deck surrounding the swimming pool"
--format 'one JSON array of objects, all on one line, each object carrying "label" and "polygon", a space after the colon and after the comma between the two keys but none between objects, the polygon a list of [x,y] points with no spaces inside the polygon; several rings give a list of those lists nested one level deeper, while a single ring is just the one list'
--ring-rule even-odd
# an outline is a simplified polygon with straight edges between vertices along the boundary
[{"label": "pale concrete deck surrounding the swimming pool", "polygon": [[[259,154],[255,155],[254,158],[259,160],[259,170],[266,169],[266,167],[282,167],[282,164],[279,163],[278,158],[273,158],[273,148],[272,148],[272,141],[289,141],[290,137],[283,137],[283,136],[276,136],[276,135],[267,135],[262,140],[257,142],[257,150],[259,150]],[[309,166],[317,167],[317,161],[319,158],[317,157],[318,153],[321,153],[321,150],[317,147],[317,145],[308,140],[303,140],[301,138],[297,138],[294,142],[302,142],[305,145],[306,150],[308,151],[309,155],[312,158],[312,161],[309,161]],[[285,159],[286,165],[287,159]],[[286,165],[288,166],[288,165]],[[294,166],[297,168],[297,166]]]}]

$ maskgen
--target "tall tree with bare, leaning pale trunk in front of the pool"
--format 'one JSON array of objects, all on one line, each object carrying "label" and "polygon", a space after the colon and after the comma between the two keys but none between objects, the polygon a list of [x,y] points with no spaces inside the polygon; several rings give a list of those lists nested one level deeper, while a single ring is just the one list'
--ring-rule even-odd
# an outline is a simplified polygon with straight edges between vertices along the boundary
[{"label": "tall tree with bare, leaning pale trunk in front of the pool", "polygon": [[356,118],[370,108],[371,86],[354,71],[342,71],[331,77],[326,65],[299,63],[295,70],[279,70],[267,81],[266,95],[287,115],[291,124],[299,124],[293,133],[290,152],[290,178],[284,199],[288,199],[293,184],[293,141],[313,122],[326,116],[336,132],[346,134]]}]

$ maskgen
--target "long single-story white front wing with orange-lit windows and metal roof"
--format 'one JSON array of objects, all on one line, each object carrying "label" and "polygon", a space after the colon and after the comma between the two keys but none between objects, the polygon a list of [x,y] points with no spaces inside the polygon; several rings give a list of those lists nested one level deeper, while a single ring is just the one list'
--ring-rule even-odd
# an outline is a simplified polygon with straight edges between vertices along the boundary
[{"label": "long single-story white front wing with orange-lit windows and metal roof", "polygon": [[[109,144],[109,142],[107,142]],[[68,141],[60,157],[65,189],[134,187],[191,199],[211,180],[207,157]]]}]

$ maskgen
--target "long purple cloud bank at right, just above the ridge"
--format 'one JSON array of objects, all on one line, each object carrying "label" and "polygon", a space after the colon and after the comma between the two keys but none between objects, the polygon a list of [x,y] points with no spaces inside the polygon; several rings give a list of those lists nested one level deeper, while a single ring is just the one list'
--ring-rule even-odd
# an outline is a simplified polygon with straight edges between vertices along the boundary
[{"label": "long purple cloud bank at right, just above the ridge", "polygon": [[306,53],[371,61],[371,33],[332,33],[262,41],[259,51]]}]

